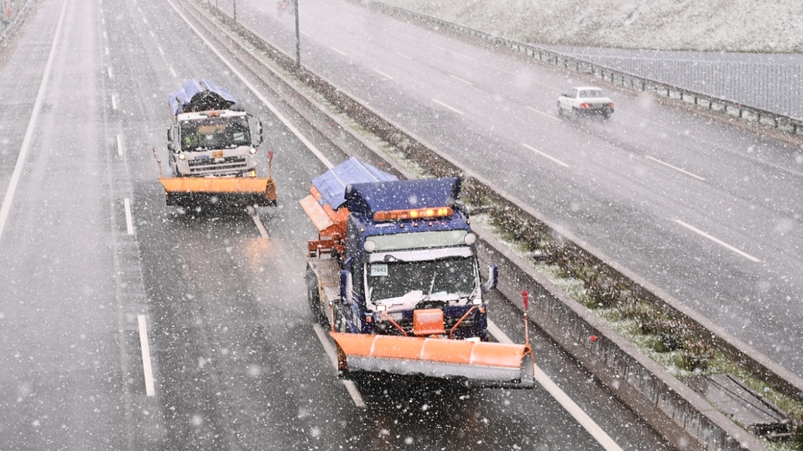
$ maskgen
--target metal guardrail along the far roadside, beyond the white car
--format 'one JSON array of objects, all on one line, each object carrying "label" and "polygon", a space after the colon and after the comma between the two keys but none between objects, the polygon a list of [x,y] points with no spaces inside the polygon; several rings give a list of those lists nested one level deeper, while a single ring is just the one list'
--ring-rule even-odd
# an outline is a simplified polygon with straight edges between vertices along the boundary
[{"label": "metal guardrail along the far roadside, beyond the white car", "polygon": [[513,39],[494,36],[484,31],[475,30],[469,26],[449,22],[441,18],[406,10],[397,6],[390,6],[384,2],[372,0],[369,6],[383,10],[389,14],[397,14],[406,18],[413,18],[420,22],[425,22],[438,29],[449,30],[460,35],[468,35],[475,39],[482,40],[496,46],[505,47],[510,51],[515,51],[537,59],[544,63],[577,71],[581,74],[590,75],[594,78],[612,83],[616,86],[629,87],[637,91],[652,92],[668,99],[679,100],[685,104],[694,105],[697,108],[711,112],[719,112],[724,115],[745,120],[768,128],[775,128],[781,132],[788,132],[794,135],[803,135],[803,120],[797,120],[779,113],[770,112],[762,108],[756,108],[745,104],[740,104],[733,100],[721,99],[714,95],[707,95],[701,92],[691,91],[683,87],[672,86],[654,79],[648,79],[626,71],[620,71],[613,67],[607,67],[599,63],[593,63],[587,59],[576,58],[565,55],[557,51],[551,51],[542,47],[537,47],[528,43],[520,43]]}]

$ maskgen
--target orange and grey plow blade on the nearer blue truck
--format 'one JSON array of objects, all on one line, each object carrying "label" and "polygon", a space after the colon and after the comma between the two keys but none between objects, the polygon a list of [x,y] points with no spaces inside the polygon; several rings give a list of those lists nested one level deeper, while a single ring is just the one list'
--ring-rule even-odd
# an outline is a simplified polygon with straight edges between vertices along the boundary
[{"label": "orange and grey plow blade on the nearer blue truck", "polygon": [[[330,332],[338,370],[454,380],[475,386],[532,388],[532,353],[524,344]],[[525,359],[525,357],[527,357]]]}]

